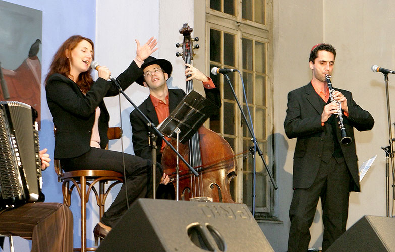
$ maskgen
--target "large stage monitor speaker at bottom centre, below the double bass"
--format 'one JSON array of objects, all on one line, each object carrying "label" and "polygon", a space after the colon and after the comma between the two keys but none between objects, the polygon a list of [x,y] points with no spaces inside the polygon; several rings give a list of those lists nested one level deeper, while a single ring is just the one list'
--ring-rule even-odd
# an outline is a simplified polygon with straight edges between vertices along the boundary
[{"label": "large stage monitor speaker at bottom centre, below the double bass", "polygon": [[112,251],[273,251],[245,204],[138,199],[97,248]]}]

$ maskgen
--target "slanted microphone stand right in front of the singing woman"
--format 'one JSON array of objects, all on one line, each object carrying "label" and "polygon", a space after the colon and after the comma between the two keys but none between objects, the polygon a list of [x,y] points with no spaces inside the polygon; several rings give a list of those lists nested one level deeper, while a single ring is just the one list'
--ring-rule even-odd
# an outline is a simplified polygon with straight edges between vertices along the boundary
[{"label": "slanted microphone stand right in front of the singing woman", "polygon": [[[134,102],[128,97],[128,95],[125,94],[124,90],[121,88],[121,85],[120,85],[119,81],[118,81],[116,78],[114,78],[113,82],[114,82],[115,85],[117,86],[118,91],[129,101],[129,103],[130,103],[130,104],[139,112],[139,114],[143,117],[143,119],[145,120],[146,125],[147,125],[148,127],[151,127],[151,128],[153,129],[154,133],[151,133],[151,134],[155,134],[157,137],[160,137],[161,139],[163,139],[163,141],[168,145],[168,147],[170,147],[170,149],[172,149],[172,150],[174,151],[174,153],[176,153],[176,155],[181,159],[181,161],[183,161],[183,163],[189,168],[189,170],[190,170],[196,177],[198,177],[199,174],[192,168],[192,166],[191,166],[187,161],[185,161],[185,159],[183,158],[183,156],[181,156],[181,154],[180,154],[180,153],[179,153],[179,152],[178,152],[178,151],[167,141],[167,139],[164,137],[164,135],[155,127],[155,124],[153,124],[153,123],[148,119],[148,117],[145,116],[145,114],[136,106],[136,104],[134,104]],[[151,139],[153,139],[153,138],[151,138]],[[155,142],[155,141],[153,141],[153,142]],[[154,146],[154,148],[155,148],[155,147],[156,147],[156,146]],[[156,157],[156,155],[155,155],[155,157]],[[155,174],[155,172],[156,172],[156,162],[153,163],[153,168],[154,168],[153,174]],[[153,181],[154,181],[154,182],[155,182],[155,179],[156,179],[156,177],[153,178]],[[153,188],[155,188],[155,187],[156,187],[156,185],[153,186]],[[154,192],[154,197],[155,197],[155,193],[156,193],[156,192]]]}]

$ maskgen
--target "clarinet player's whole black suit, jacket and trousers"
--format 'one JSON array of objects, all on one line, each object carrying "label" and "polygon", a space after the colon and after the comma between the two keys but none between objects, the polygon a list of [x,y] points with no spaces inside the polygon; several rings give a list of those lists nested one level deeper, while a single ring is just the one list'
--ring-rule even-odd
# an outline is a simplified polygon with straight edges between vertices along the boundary
[{"label": "clarinet player's whole black suit, jacket and trousers", "polygon": [[[349,191],[360,191],[354,128],[359,131],[370,130],[373,127],[374,120],[368,111],[363,110],[355,103],[351,92],[341,89],[336,90],[347,98],[349,111],[348,116],[343,115],[343,124],[347,136],[352,138],[352,142],[348,145],[340,144],[340,130],[335,115],[332,115],[324,126],[321,125],[321,114],[327,103],[316,93],[311,83],[288,94],[284,129],[287,137],[297,138],[294,153],[294,196],[290,207],[289,245],[296,245],[296,247],[298,247],[297,244],[303,242],[308,245],[310,240],[308,228],[314,218],[314,204],[316,207],[320,196],[323,203],[327,203],[325,207],[323,206],[325,225],[323,245],[324,248],[327,248],[325,247],[326,244],[330,244],[332,239],[336,238],[337,233],[345,231]],[[339,177],[342,177],[343,174],[343,178],[339,180],[335,177],[333,181],[327,178],[331,174],[337,174],[336,172],[340,174]],[[314,187],[319,186],[322,186],[322,188],[314,191]],[[325,202],[325,197],[333,199],[332,195],[328,196],[328,192],[336,186],[343,186],[344,197],[338,196],[336,198],[336,195],[333,195],[334,201],[328,200]],[[305,192],[309,193],[306,194]],[[336,194],[336,192],[333,192],[333,194]],[[314,199],[306,199],[309,198],[306,195],[314,195]],[[306,201],[311,202],[305,203],[305,206],[304,203],[301,203],[302,201],[304,203]],[[307,208],[307,206],[310,207],[309,211],[300,209]],[[339,212],[336,214],[341,216],[341,223],[334,225],[330,223],[331,217],[328,217],[328,215],[336,211]],[[340,231],[336,230],[335,235],[331,233],[332,224],[336,226],[334,229],[341,229]],[[300,251],[299,249],[293,250],[290,246],[288,249],[288,251]]]}]

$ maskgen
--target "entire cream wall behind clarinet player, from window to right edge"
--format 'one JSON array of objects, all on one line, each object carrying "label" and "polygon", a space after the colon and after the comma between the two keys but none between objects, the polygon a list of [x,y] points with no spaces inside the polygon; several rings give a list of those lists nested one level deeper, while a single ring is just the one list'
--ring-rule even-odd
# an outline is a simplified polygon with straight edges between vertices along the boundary
[{"label": "entire cream wall behind clarinet player, from window to right edge", "polygon": [[[395,34],[387,29],[395,11],[390,1],[274,1],[274,128],[275,160],[278,174],[276,213],[282,224],[260,226],[275,251],[287,250],[292,199],[292,162],[296,140],[287,139],[283,122],[287,93],[311,80],[308,57],[313,45],[325,42],[337,51],[332,82],[335,87],[353,92],[354,100],[375,119],[372,131],[355,131],[359,165],[377,154],[361,182],[362,193],[351,193],[347,228],[364,215],[386,216],[385,154],[388,123],[383,75],[373,73],[374,64],[395,68]],[[389,92],[393,95],[392,76]],[[393,104],[391,107],[393,111]],[[393,118],[392,122],[393,122]],[[392,128],[393,130],[393,128]],[[322,244],[322,211],[316,212],[310,229],[311,248]]]}]

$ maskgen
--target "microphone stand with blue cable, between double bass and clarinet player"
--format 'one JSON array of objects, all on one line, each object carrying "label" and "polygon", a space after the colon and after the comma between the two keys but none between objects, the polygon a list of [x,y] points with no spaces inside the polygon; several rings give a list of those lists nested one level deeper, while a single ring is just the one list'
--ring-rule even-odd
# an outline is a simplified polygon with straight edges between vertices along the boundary
[{"label": "microphone stand with blue cable, between double bass and clarinet player", "polygon": [[[239,70],[237,70],[237,72],[239,72]],[[265,158],[263,157],[263,152],[262,152],[261,148],[259,147],[258,142],[256,141],[256,137],[255,137],[254,131],[252,130],[251,125],[250,125],[250,124],[248,123],[248,121],[247,121],[247,117],[246,117],[246,115],[245,115],[245,113],[244,113],[244,111],[243,111],[243,107],[241,106],[241,104],[240,104],[240,102],[239,102],[239,99],[238,99],[237,96],[236,96],[236,93],[235,93],[235,90],[233,89],[232,83],[231,83],[231,81],[229,80],[229,77],[228,77],[227,74],[223,74],[223,75],[225,76],[225,79],[227,79],[227,82],[228,82],[228,84],[229,84],[229,86],[230,86],[230,88],[231,88],[231,90],[232,90],[232,94],[233,94],[233,96],[235,97],[236,103],[237,103],[237,105],[239,106],[239,109],[240,109],[240,112],[241,112],[241,114],[242,114],[242,116],[243,116],[243,119],[244,119],[244,121],[245,121],[246,124],[247,124],[248,131],[250,132],[250,135],[251,135],[251,137],[252,137],[252,138],[251,138],[251,141],[254,143],[254,148],[253,148],[253,152],[254,152],[254,153],[253,153],[254,167],[253,167],[253,185],[252,185],[252,190],[253,190],[253,192],[252,192],[252,215],[255,217],[255,201],[256,201],[256,194],[255,194],[255,188],[256,188],[255,154],[256,154],[256,152],[258,152],[259,156],[260,156],[261,159],[262,159],[263,164],[265,165],[267,174],[268,174],[269,177],[270,177],[270,181],[271,181],[271,183],[273,184],[274,189],[277,190],[278,187],[277,187],[276,182],[274,181],[273,175],[271,174],[271,172],[270,172],[270,170],[269,170],[269,167],[268,167],[267,164],[266,164]],[[240,75],[240,72],[239,72],[239,75]],[[248,108],[248,103],[246,102],[246,104],[247,104],[247,109],[249,110],[249,108]],[[252,148],[251,148],[250,150],[252,151]]]}]

